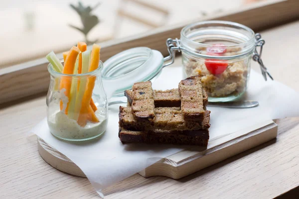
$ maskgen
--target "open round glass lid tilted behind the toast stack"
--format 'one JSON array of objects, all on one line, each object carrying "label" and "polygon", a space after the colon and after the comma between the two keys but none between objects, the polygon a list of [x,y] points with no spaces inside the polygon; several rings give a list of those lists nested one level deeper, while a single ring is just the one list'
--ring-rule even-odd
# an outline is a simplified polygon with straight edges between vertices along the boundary
[{"label": "open round glass lid tilted behind the toast stack", "polygon": [[102,71],[107,98],[122,97],[134,83],[152,80],[162,66],[162,54],[147,47],[131,48],[114,55],[104,62]]}]

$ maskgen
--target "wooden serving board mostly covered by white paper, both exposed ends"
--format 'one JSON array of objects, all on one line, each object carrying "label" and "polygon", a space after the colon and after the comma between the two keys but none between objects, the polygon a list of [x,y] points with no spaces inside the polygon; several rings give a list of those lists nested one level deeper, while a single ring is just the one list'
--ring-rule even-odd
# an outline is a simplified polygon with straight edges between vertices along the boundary
[{"label": "wooden serving board mostly covered by white paper, both exposed ends", "polygon": [[[161,159],[139,172],[143,177],[166,176],[179,179],[229,157],[265,143],[277,136],[278,125],[272,120],[209,141],[208,147],[188,150]],[[62,172],[86,177],[82,170],[66,156],[38,138],[38,152],[52,167]],[[196,150],[192,150],[195,149]]]}]

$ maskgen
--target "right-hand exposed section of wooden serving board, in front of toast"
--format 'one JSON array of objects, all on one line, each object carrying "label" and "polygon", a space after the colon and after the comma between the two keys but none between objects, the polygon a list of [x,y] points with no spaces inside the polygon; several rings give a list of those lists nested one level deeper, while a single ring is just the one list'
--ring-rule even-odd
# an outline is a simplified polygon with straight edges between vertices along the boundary
[{"label": "right-hand exposed section of wooden serving board, in front of toast", "polygon": [[251,149],[277,136],[277,124],[266,121],[210,141],[206,150],[185,150],[171,155],[141,171],[144,177],[166,176],[180,179],[196,171],[214,165],[229,157]]}]

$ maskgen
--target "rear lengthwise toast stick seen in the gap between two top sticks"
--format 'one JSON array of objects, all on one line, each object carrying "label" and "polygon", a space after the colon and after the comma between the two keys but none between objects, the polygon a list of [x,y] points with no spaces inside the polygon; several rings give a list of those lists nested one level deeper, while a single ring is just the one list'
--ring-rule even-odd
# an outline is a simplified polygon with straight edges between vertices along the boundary
[{"label": "rear lengthwise toast stick seen in the gap between two top sticks", "polygon": [[[133,91],[125,91],[125,96],[127,97],[128,102],[132,104]],[[208,105],[208,94],[205,92],[204,89],[202,89],[202,97],[203,107],[205,109]],[[166,91],[153,90],[153,100],[155,107],[180,107],[181,105],[178,89],[170,89]]]}]

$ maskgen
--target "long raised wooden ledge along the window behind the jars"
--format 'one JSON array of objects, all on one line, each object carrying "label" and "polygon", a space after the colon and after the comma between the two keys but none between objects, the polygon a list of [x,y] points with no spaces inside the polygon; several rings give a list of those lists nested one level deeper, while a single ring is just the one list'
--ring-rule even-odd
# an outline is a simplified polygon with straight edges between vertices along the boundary
[{"label": "long raised wooden ledge along the window behind the jars", "polygon": [[[213,17],[200,18],[200,20],[235,21],[259,31],[299,19],[298,7],[299,0],[275,0],[275,2],[261,2],[234,12],[215,14]],[[196,21],[198,20],[161,27],[142,35],[101,43],[101,59],[105,61],[121,51],[137,46],[156,49],[166,56],[168,53],[165,46],[166,39],[169,37],[179,38],[182,27]],[[58,54],[58,57],[62,59],[62,54]],[[39,59],[0,69],[0,103],[47,91],[49,85],[47,63],[46,59]]]}]

